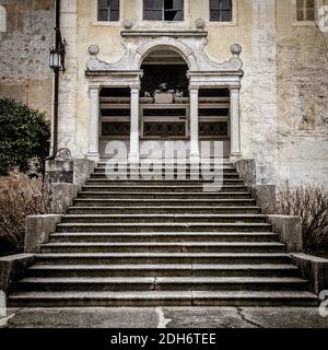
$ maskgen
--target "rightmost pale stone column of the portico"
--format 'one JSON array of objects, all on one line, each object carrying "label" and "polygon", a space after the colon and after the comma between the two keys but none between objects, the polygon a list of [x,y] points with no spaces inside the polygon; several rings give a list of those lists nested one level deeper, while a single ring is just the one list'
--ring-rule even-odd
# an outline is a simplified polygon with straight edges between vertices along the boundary
[{"label": "rightmost pale stone column of the portico", "polygon": [[230,90],[230,118],[231,118],[231,158],[236,160],[242,156],[241,150],[241,112],[239,88]]}]

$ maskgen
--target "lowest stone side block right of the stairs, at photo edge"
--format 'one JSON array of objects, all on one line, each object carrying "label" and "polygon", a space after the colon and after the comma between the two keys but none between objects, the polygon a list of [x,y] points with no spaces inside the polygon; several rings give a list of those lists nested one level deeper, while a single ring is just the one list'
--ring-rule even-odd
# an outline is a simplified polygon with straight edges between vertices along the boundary
[{"label": "lowest stone side block right of the stairs, at photo edge", "polygon": [[315,294],[319,295],[321,291],[328,290],[328,259],[307,254],[292,254],[292,259],[302,277],[309,280]]}]

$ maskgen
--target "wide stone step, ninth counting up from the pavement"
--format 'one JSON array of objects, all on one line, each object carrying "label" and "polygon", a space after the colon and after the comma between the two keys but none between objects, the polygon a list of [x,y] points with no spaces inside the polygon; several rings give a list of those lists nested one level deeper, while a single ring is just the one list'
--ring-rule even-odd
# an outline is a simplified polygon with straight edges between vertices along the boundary
[{"label": "wide stone step, ninth counting up from the pavement", "polygon": [[259,207],[71,207],[71,215],[77,214],[259,214]]}]

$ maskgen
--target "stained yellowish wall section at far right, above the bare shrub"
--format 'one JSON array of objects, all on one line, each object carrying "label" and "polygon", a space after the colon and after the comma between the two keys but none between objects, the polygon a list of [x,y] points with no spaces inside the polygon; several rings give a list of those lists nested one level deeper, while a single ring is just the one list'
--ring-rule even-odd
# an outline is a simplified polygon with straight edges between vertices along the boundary
[{"label": "stained yellowish wall section at far right, above the bare shrub", "polygon": [[328,185],[328,33],[278,1],[280,183]]}]

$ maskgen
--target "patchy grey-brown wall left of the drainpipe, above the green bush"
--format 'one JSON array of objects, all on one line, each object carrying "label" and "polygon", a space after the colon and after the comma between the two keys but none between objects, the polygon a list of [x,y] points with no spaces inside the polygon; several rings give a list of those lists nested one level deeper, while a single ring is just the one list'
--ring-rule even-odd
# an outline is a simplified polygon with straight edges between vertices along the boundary
[{"label": "patchy grey-brown wall left of the drainpipe, above the green bush", "polygon": [[0,0],[7,32],[0,33],[0,97],[13,97],[51,114],[52,0]]}]

